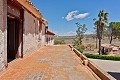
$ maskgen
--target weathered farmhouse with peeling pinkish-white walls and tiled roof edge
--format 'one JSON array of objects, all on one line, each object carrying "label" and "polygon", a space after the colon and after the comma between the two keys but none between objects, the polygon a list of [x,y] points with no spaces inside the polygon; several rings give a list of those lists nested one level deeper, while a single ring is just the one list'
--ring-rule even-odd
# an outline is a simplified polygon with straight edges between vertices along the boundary
[{"label": "weathered farmhouse with peeling pinkish-white walls and tiled roof edge", "polygon": [[16,58],[53,45],[55,34],[47,24],[29,0],[0,0],[0,70]]}]

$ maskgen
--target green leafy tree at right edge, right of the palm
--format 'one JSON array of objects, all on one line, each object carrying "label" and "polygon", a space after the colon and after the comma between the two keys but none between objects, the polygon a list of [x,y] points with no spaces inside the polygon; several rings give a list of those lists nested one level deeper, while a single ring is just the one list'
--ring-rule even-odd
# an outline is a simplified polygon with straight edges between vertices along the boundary
[{"label": "green leafy tree at right edge, right of the palm", "polygon": [[110,44],[111,44],[113,37],[120,38],[120,22],[111,22],[109,24],[109,29],[110,29]]}]

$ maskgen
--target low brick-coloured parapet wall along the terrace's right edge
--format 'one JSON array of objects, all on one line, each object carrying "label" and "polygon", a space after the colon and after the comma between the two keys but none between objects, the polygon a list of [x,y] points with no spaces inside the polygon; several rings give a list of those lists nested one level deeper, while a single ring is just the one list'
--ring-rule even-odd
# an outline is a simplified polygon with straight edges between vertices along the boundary
[{"label": "low brick-coloured parapet wall along the terrace's right edge", "polygon": [[[97,65],[95,65],[92,61],[88,60],[86,56],[84,56],[82,53],[80,53],[77,49],[75,49],[73,46],[69,45],[72,51],[74,51],[82,60],[82,63],[84,65],[87,65],[92,71],[102,80],[116,80],[111,75],[109,75],[107,72],[100,69]],[[87,63],[87,64],[86,64]]]}]

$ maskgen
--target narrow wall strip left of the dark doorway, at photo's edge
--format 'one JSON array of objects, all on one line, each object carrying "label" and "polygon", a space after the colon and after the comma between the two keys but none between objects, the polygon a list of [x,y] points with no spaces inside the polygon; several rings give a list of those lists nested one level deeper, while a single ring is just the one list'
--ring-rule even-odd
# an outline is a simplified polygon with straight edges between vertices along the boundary
[{"label": "narrow wall strip left of the dark doorway, at photo's edge", "polygon": [[7,64],[7,0],[0,0],[0,71]]}]

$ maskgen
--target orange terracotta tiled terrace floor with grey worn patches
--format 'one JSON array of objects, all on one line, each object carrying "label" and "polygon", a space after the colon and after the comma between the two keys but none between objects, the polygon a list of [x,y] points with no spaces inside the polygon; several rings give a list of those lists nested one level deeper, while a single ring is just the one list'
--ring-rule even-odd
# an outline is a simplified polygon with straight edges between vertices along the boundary
[{"label": "orange terracotta tiled terrace floor with grey worn patches", "polygon": [[0,80],[96,80],[68,46],[47,46],[16,59]]}]

